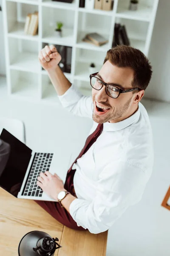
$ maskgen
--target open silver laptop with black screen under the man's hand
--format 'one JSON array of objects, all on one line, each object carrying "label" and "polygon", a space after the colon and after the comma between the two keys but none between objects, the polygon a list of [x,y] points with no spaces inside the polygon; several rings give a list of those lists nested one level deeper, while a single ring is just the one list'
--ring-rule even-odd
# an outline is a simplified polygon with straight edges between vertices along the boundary
[{"label": "open silver laptop with black screen under the man's hand", "polygon": [[54,153],[34,152],[6,129],[0,139],[7,145],[5,164],[0,164],[0,187],[17,198],[56,201],[37,186],[41,172],[56,172]]}]

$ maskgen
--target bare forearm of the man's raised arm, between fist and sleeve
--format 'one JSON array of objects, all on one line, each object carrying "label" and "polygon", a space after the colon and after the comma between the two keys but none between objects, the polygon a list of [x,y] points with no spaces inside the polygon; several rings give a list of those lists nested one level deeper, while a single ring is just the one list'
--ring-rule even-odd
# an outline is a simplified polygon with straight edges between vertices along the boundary
[{"label": "bare forearm of the man's raised arm, between fist and sleeve", "polygon": [[71,87],[71,82],[68,81],[58,65],[55,71],[48,70],[47,72],[51,83],[54,85],[59,96],[63,95]]}]

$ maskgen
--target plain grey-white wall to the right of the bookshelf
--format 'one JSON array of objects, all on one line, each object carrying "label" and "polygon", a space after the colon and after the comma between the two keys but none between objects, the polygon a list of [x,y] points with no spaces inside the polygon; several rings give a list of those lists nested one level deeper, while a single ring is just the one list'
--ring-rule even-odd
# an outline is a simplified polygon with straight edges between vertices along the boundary
[{"label": "plain grey-white wall to the right of the bookshelf", "polygon": [[170,0],[159,0],[148,57],[153,77],[145,97],[170,102]]}]

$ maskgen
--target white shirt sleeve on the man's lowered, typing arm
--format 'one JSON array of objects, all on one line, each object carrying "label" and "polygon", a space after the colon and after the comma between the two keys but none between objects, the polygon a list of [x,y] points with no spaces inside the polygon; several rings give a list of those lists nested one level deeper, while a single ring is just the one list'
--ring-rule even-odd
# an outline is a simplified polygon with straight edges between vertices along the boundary
[{"label": "white shirt sleeve on the man's lowered, typing arm", "polygon": [[93,201],[75,199],[70,214],[78,226],[101,233],[142,198],[148,178],[146,172],[127,162],[108,164],[100,173]]}]

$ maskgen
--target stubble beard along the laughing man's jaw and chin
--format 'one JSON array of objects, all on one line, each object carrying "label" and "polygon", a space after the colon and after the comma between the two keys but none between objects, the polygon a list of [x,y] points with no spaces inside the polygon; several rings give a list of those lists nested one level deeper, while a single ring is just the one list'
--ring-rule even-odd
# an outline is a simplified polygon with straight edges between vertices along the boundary
[{"label": "stubble beard along the laughing man's jaw and chin", "polygon": [[109,121],[111,121],[113,119],[118,119],[118,118],[122,117],[127,112],[128,108],[129,108],[129,105],[130,105],[130,102],[131,102],[131,99],[132,98],[130,98],[125,103],[124,106],[119,107],[117,109],[117,111],[114,111],[113,113],[108,113],[108,115],[105,115],[105,116],[98,116],[98,115],[96,115],[94,113],[94,105],[93,105],[93,115],[92,115],[92,118],[93,118],[94,122],[97,122],[99,124],[103,124],[103,123],[109,122]]}]

